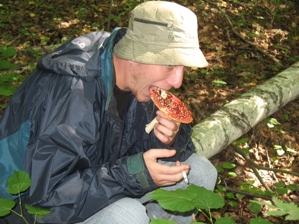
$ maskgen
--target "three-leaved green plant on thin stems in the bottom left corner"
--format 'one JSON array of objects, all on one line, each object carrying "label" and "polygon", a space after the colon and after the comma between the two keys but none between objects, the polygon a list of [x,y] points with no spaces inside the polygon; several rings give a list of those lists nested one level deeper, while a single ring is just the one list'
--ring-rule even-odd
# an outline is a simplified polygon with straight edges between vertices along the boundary
[{"label": "three-leaved green plant on thin stems in the bottom left corner", "polygon": [[[16,213],[12,210],[13,207],[15,207],[16,202],[12,199],[7,198],[1,198],[0,199],[0,216],[4,216],[9,214],[11,211],[15,214],[22,217],[23,211],[22,211],[22,202],[21,202],[21,192],[26,191],[30,185],[31,185],[31,179],[29,177],[29,174],[24,171],[15,171],[13,175],[7,180],[8,189],[7,192],[9,194],[18,194],[19,195],[19,204],[21,208],[21,214]],[[36,218],[39,220],[40,218],[47,216],[51,214],[51,210],[45,209],[45,208],[38,208],[30,205],[25,205],[25,208],[27,212],[31,215],[35,215],[34,223],[36,223]],[[25,222],[28,224],[28,222],[25,220]]]}]

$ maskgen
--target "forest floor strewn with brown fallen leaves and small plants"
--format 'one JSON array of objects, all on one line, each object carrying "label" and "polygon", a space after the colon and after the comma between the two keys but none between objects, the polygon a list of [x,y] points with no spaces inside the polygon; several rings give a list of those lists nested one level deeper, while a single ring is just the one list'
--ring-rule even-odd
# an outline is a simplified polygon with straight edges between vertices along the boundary
[{"label": "forest floor strewn with brown fallen leaves and small plants", "polygon": [[[185,5],[198,16],[200,48],[209,62],[207,68],[188,69],[184,85],[173,90],[192,111],[194,121],[191,125],[197,124],[235,97],[275,76],[299,59],[297,1],[229,0],[217,4],[191,0],[175,2]],[[2,1],[0,46],[13,46],[17,51],[15,56],[7,59],[16,69],[5,70],[6,73],[19,74],[19,79],[13,85],[18,86],[34,69],[39,57],[51,50],[43,46],[61,44],[91,31],[107,30],[109,3],[95,0]],[[138,1],[114,1],[110,27],[127,27],[129,11],[137,4]],[[219,9],[230,18],[234,30],[240,36],[280,60],[283,66],[235,35],[227,17]],[[1,96],[0,100],[0,104],[5,105],[9,97]],[[191,105],[192,101],[199,110]],[[269,126],[269,121],[263,121],[240,139],[248,138],[249,156],[258,165],[269,167],[269,160],[273,168],[299,173],[299,99],[288,103],[268,119],[271,118],[278,123],[272,122],[273,125]],[[275,148],[274,145],[280,145],[285,153],[278,155],[277,146]],[[210,161],[215,166],[222,166],[224,162],[236,165],[230,170],[237,174],[236,177],[219,173],[221,185],[239,189],[246,185],[244,183],[250,183],[256,191],[265,190],[248,163],[234,152],[233,146],[228,146],[210,158]],[[295,176],[263,170],[259,174],[273,191],[278,182],[282,183],[281,188],[299,184]],[[287,190],[280,197],[299,203],[298,190]],[[212,215],[214,218],[231,216],[236,223],[250,223],[250,219],[255,217],[248,208],[250,199],[253,198],[246,196],[238,200],[236,195],[232,198],[228,196],[225,198],[225,207],[213,210]],[[258,216],[263,217],[263,213],[260,212]],[[204,215],[198,215],[197,218],[208,223]],[[284,221],[281,216],[267,219],[272,223],[295,223]]]}]

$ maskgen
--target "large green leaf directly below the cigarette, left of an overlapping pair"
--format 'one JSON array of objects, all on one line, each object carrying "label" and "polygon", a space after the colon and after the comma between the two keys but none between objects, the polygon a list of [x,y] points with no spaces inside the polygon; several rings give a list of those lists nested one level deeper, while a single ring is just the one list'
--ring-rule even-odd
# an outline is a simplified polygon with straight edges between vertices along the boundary
[{"label": "large green leaf directly below the cigarette, left of an overlapping pair", "polygon": [[196,204],[193,200],[197,194],[192,191],[184,191],[183,189],[176,189],[175,191],[166,191],[164,189],[157,189],[154,193],[146,198],[152,198],[158,201],[161,207],[171,211],[190,211],[195,208]]}]

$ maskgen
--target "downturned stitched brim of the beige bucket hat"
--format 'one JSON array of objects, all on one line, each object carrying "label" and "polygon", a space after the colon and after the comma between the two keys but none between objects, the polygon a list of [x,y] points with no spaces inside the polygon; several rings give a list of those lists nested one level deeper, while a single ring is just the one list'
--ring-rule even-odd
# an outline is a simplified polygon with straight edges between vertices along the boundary
[{"label": "downturned stitched brim of the beige bucket hat", "polygon": [[199,48],[157,45],[133,42],[124,36],[114,47],[117,57],[125,60],[152,65],[183,65],[207,67],[209,64]]}]

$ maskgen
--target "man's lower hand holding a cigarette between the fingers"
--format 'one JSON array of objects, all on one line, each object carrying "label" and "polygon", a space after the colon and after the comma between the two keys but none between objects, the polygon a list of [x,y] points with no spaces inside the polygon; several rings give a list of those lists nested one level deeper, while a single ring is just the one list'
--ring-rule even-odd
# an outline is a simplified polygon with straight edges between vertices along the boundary
[{"label": "man's lower hand holding a cigarette between the fingers", "polygon": [[157,186],[175,184],[183,178],[183,171],[188,173],[188,164],[180,165],[179,161],[176,161],[175,166],[167,166],[157,162],[157,158],[172,157],[175,154],[175,150],[168,149],[150,149],[143,154],[145,165]]}]

